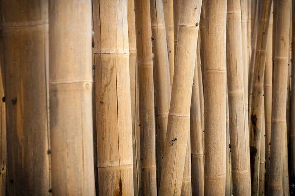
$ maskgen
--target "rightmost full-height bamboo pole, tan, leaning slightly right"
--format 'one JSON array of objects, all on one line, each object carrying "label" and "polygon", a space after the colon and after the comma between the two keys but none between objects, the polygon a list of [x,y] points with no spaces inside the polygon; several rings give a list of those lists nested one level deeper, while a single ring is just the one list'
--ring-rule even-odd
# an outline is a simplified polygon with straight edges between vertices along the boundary
[{"label": "rightmost full-height bamboo pole, tan, leaning slightly right", "polygon": [[276,44],[271,116],[270,183],[268,194],[282,194],[284,138],[286,131],[286,96],[288,77],[289,26],[291,0],[277,2]]}]

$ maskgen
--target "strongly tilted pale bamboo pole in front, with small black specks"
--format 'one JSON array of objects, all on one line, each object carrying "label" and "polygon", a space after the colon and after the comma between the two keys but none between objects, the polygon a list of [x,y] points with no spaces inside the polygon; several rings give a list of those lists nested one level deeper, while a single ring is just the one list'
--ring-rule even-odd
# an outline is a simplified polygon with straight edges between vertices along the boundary
[{"label": "strongly tilted pale bamboo pole in front, with small black specks", "polygon": [[[201,0],[184,0],[178,25],[175,75],[162,167],[160,196],[180,195],[189,134]],[[177,140],[175,140],[177,139]],[[174,141],[172,141],[174,140]]]}]

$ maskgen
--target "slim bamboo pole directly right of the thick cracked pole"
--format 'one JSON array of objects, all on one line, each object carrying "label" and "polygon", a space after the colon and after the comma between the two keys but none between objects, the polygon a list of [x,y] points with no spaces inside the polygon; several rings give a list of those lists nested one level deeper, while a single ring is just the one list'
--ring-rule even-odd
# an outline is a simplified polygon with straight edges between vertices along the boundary
[{"label": "slim bamboo pole directly right of the thick cracked pole", "polygon": [[128,0],[128,41],[129,41],[129,75],[130,75],[130,95],[131,95],[131,118],[132,118],[132,149],[133,149],[133,188],[134,195],[139,196],[140,184],[137,149],[138,128],[138,91],[137,91],[137,64],[136,64],[136,34],[135,34],[135,11],[134,0]]}]

